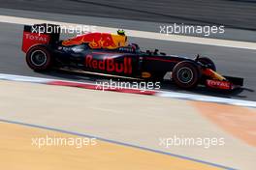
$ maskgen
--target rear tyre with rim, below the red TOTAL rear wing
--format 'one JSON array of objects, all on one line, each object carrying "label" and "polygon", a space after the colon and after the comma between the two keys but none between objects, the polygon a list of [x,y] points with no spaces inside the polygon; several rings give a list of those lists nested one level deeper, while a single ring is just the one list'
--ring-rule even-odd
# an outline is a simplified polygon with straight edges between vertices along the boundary
[{"label": "rear tyre with rim, below the red TOTAL rear wing", "polygon": [[44,46],[33,46],[26,53],[26,63],[34,71],[47,71],[51,67],[52,58]]}]

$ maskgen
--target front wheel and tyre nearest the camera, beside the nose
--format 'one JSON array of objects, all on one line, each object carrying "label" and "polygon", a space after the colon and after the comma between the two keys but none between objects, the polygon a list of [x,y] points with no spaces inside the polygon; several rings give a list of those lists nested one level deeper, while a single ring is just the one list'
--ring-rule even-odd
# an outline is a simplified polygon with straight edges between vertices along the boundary
[{"label": "front wheel and tyre nearest the camera, beside the nose", "polygon": [[195,88],[201,78],[200,68],[193,62],[183,61],[176,64],[172,77],[176,86],[183,89]]}]

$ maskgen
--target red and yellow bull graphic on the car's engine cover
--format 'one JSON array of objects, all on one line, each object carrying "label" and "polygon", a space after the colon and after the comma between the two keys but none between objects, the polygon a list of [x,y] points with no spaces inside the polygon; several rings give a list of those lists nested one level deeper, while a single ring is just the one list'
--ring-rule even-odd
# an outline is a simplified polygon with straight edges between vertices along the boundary
[{"label": "red and yellow bull graphic on the car's engine cover", "polygon": [[126,37],[120,35],[112,35],[109,33],[89,33],[78,36],[74,39],[64,41],[62,44],[68,46],[73,44],[81,44],[83,42],[88,42],[91,48],[114,49],[125,45]]}]

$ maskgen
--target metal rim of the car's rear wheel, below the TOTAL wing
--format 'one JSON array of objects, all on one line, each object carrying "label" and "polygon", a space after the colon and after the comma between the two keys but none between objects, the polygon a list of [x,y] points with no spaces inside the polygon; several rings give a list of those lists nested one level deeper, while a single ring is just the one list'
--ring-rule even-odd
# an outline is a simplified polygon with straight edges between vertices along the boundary
[{"label": "metal rim of the car's rear wheel, below the TOTAL wing", "polygon": [[47,63],[47,54],[42,50],[35,50],[30,55],[31,63],[34,66],[41,67]]}]

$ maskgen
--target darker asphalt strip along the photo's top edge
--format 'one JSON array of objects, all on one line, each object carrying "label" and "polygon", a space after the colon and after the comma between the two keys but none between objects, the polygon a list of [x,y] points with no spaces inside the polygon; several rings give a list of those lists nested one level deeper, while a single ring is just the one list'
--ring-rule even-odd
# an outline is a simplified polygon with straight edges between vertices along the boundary
[{"label": "darker asphalt strip along the photo's top edge", "polygon": [[0,8],[256,29],[255,0],[0,0]]}]

